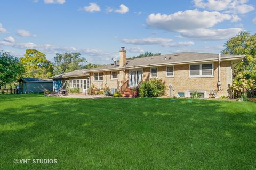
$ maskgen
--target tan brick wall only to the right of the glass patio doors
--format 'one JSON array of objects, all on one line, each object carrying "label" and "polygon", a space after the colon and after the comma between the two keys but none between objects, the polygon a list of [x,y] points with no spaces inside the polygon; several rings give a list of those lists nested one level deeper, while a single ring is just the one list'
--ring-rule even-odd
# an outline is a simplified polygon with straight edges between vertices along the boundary
[{"label": "tan brick wall only to the right of the glass patio doors", "polygon": [[[209,97],[211,90],[217,92],[217,97],[229,95],[229,84],[232,81],[232,70],[231,61],[221,62],[221,90],[218,91],[218,62],[213,64],[213,77],[200,77],[200,78],[189,78],[189,64],[175,65],[174,66],[174,77],[166,77],[166,67],[161,66],[158,68],[158,78],[162,79],[165,85],[168,87],[172,85],[171,94],[178,92],[184,92],[185,96],[188,97],[189,91],[203,91],[206,97]],[[143,69],[143,80],[150,79],[150,68]],[[166,95],[169,95],[170,91],[167,88]]]}]

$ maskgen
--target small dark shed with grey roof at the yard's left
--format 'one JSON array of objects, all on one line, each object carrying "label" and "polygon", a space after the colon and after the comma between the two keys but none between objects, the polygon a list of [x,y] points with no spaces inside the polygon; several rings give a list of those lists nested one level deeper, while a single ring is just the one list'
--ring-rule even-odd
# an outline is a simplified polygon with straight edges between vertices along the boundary
[{"label": "small dark shed with grey roof at the yard's left", "polygon": [[20,78],[18,82],[21,94],[41,93],[53,89],[52,79]]}]

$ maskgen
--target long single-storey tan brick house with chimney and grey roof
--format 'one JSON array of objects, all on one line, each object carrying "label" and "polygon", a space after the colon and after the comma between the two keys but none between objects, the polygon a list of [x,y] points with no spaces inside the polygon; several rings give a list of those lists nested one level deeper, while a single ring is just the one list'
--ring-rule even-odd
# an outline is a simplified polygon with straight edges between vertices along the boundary
[{"label": "long single-storey tan brick house with chimney and grey roof", "polygon": [[[182,52],[126,60],[124,47],[119,51],[119,62],[93,69],[75,70],[53,77],[55,90],[79,88],[86,92],[94,84],[98,89],[108,86],[123,96],[134,96],[131,89],[151,78],[162,79],[168,96],[179,94],[190,97],[230,96],[232,70],[244,55]],[[125,95],[124,95],[125,94]]]}]

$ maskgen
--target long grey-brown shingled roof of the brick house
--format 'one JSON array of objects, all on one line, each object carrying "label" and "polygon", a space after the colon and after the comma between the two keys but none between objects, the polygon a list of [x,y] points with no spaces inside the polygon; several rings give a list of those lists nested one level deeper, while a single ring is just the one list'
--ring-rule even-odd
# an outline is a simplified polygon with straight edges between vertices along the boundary
[{"label": "long grey-brown shingled roof of the brick house", "polygon": [[[231,55],[231,54],[221,54],[221,60],[236,60],[242,59],[245,55]],[[196,52],[182,52],[166,55],[158,55],[154,57],[142,57],[127,59],[126,65],[119,67],[117,64],[108,64],[105,66],[92,68],[92,69],[80,69],[73,72],[64,73],[60,75],[55,75],[52,78],[67,78],[84,76],[85,73],[97,72],[97,71],[110,71],[110,70],[121,70],[121,69],[132,69],[137,67],[150,67],[150,66],[160,66],[160,65],[175,65],[183,63],[193,63],[193,62],[207,62],[207,61],[218,61],[219,54],[213,53],[196,53]],[[88,75],[88,74],[87,74]]]}]

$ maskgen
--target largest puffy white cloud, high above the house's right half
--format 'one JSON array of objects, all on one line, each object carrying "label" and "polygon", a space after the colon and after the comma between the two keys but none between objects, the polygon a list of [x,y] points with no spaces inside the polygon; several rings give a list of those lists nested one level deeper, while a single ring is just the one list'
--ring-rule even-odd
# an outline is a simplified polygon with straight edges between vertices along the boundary
[{"label": "largest puffy white cloud, high above the house's right half", "polygon": [[209,28],[225,20],[230,20],[231,15],[219,12],[186,10],[170,15],[150,14],[146,19],[149,27],[166,31],[179,31],[183,29]]}]

